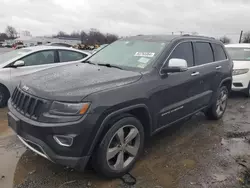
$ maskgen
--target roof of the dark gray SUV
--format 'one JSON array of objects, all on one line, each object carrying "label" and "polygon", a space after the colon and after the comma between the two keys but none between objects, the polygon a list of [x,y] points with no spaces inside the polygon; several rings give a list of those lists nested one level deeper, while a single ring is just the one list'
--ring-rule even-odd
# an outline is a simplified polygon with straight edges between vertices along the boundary
[{"label": "roof of the dark gray SUV", "polygon": [[209,39],[215,40],[212,37],[205,36],[196,36],[196,35],[137,35],[132,37],[123,38],[122,40],[145,40],[145,41],[154,41],[154,42],[170,42],[173,39],[177,38],[192,38],[192,39]]}]

